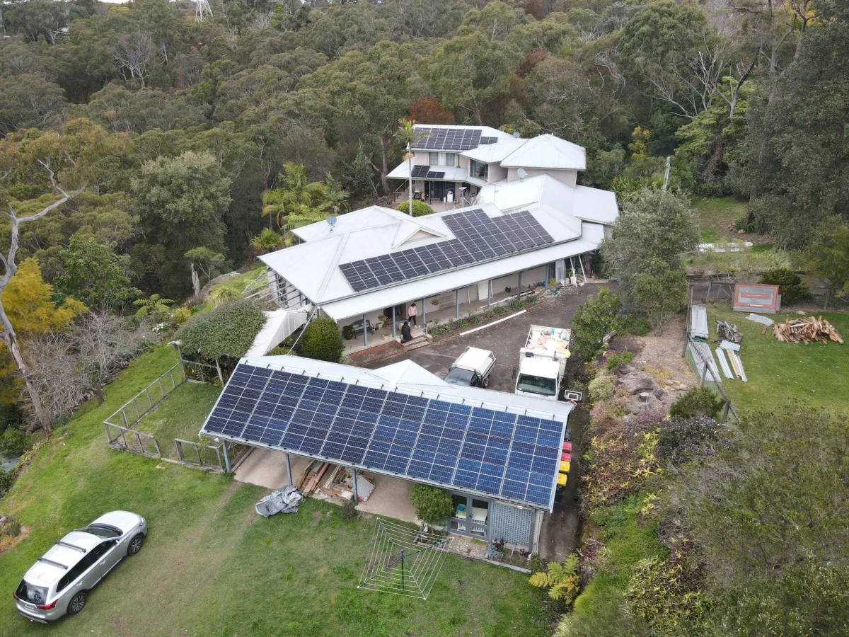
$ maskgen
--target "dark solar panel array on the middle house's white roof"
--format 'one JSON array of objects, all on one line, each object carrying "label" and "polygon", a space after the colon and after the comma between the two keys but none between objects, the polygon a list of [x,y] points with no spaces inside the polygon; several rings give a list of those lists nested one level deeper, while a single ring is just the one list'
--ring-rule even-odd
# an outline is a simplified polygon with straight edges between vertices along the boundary
[{"label": "dark solar panel array on the middle house's white roof", "polygon": [[455,239],[374,256],[364,261],[342,263],[339,268],[351,288],[360,292],[554,241],[529,211],[492,219],[477,208],[446,215],[442,220]]}]

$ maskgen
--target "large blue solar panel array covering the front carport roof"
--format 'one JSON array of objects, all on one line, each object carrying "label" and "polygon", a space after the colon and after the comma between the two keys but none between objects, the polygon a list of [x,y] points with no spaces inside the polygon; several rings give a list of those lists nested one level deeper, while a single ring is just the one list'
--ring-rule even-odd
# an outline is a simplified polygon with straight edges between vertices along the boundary
[{"label": "large blue solar panel array covering the front carport roof", "polygon": [[240,363],[201,430],[549,507],[565,422]]}]

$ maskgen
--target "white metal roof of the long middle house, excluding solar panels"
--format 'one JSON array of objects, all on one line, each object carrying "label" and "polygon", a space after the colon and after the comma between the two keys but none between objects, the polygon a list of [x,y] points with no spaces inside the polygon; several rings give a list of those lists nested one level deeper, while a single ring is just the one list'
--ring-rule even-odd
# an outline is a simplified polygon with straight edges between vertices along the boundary
[{"label": "white metal roof of the long middle house, excluding solar panels", "polygon": [[[603,228],[595,226],[595,222],[615,219],[618,209],[613,193],[593,191],[585,189],[583,192],[588,194],[578,196],[578,189],[548,175],[538,175],[489,184],[481,189],[478,205],[426,217],[409,217],[390,208],[369,206],[341,215],[333,227],[320,222],[298,228],[295,233],[306,243],[262,255],[260,259],[330,316],[348,318],[595,250],[604,238]],[[576,206],[581,201],[589,201],[592,206],[579,213]],[[554,243],[359,293],[354,292],[339,268],[342,263],[453,239],[443,217],[476,208],[490,217],[509,211],[531,211]]]}]

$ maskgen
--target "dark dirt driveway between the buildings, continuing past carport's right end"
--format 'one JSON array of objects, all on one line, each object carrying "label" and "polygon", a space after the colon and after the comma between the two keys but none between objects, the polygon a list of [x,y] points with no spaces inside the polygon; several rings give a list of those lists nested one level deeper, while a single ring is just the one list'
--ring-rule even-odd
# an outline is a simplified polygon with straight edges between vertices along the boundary
[{"label": "dark dirt driveway between the buildings, continuing past carport's right end", "polygon": [[[486,327],[473,334],[453,335],[439,339],[430,347],[413,350],[400,357],[373,361],[367,366],[374,369],[409,358],[424,369],[444,378],[448,373],[448,366],[467,346],[481,347],[492,351],[496,357],[489,389],[512,393],[513,368],[519,364],[519,349],[525,345],[531,324],[569,327],[576,307],[586,301],[588,296],[597,294],[603,287],[609,287],[609,285],[606,283],[585,285],[575,296],[558,296],[545,302],[538,302],[529,307],[526,313],[503,323]],[[586,414],[581,412],[575,412],[569,418],[576,451],[580,446],[580,437],[586,420]],[[576,454],[573,454],[572,459],[568,485],[565,489],[558,491],[554,502],[554,512],[547,513],[543,518],[539,552],[544,560],[563,561],[577,544],[581,526],[577,511],[577,487],[581,463]]]}]

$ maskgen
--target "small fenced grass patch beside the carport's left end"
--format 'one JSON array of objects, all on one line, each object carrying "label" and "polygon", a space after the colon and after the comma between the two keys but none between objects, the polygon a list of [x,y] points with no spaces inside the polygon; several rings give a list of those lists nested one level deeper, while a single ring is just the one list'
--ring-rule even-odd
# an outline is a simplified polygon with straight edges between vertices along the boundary
[{"label": "small fenced grass patch beside the carport's left end", "polygon": [[221,387],[184,382],[144,416],[135,428],[153,434],[160,443],[162,454],[166,458],[177,459],[174,438],[198,442],[198,431],[220,393]]}]

